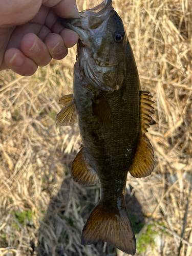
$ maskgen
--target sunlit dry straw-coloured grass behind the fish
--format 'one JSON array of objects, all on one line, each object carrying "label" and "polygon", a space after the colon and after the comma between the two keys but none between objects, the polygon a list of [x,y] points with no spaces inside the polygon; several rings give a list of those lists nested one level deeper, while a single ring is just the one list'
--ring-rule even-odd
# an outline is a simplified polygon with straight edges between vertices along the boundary
[{"label": "sunlit dry straw-coloured grass behind the fish", "polygon": [[[98,2],[80,1],[79,10]],[[148,133],[154,173],[127,177],[127,207],[139,237],[136,255],[177,255],[188,200],[180,255],[190,256],[192,3],[113,2],[124,21],[142,89],[155,101]],[[80,245],[99,188],[73,182],[70,165],[80,144],[78,127],[58,127],[54,121],[58,99],[72,92],[75,52],[71,49],[64,60],[52,61],[29,78],[0,72],[0,255],[116,255],[103,243]]]}]

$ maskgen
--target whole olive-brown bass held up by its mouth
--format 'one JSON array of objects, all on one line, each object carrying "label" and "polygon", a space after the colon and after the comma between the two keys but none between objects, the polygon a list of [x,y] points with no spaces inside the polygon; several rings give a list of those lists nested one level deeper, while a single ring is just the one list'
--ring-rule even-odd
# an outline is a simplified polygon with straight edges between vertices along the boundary
[{"label": "whole olive-brown bass held up by its mouth", "polygon": [[78,122],[81,137],[71,175],[81,185],[100,184],[100,200],[83,227],[81,244],[107,242],[134,255],[136,239],[125,205],[127,173],[141,178],[154,169],[145,133],[154,103],[141,91],[133,51],[111,0],[62,19],[78,33],[73,94],[60,98],[57,125]]}]

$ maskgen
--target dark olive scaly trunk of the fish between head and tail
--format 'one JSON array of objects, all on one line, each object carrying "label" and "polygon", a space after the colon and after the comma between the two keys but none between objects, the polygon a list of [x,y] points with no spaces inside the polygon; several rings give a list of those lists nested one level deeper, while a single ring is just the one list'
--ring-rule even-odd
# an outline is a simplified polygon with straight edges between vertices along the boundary
[{"label": "dark olive scaly trunk of the fish between head and tail", "polygon": [[[132,53],[129,45],[127,52],[128,56],[129,52]],[[132,61],[134,67],[129,69],[129,76],[133,78],[124,79],[119,90],[103,92],[113,116],[109,129],[100,125],[94,115],[94,105],[97,104],[95,102],[101,94],[100,90],[87,84],[83,77],[77,76],[79,72],[74,72],[73,95],[84,154],[99,177],[101,198],[104,194],[104,197],[108,195],[109,200],[116,195],[124,200],[126,176],[138,142],[140,87],[138,76],[132,75],[137,74],[134,59]],[[130,58],[127,58],[127,62],[131,63]]]}]

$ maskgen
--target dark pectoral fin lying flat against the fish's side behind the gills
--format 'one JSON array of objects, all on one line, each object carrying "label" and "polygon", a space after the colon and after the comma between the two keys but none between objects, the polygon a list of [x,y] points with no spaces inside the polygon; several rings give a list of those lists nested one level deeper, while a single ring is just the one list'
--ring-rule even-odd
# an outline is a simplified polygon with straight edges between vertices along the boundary
[{"label": "dark pectoral fin lying flat against the fish's side behind the gills", "polygon": [[93,113],[97,117],[98,123],[105,129],[109,129],[113,122],[112,112],[108,101],[100,92],[99,98],[93,102]]}]

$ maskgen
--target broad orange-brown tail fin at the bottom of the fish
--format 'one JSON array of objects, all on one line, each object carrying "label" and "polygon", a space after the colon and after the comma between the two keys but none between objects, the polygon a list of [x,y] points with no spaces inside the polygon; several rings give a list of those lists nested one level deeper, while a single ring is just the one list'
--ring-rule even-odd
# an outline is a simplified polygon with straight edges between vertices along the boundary
[{"label": "broad orange-brown tail fin at the bottom of the fish", "polygon": [[134,255],[136,240],[126,207],[107,208],[101,201],[91,212],[82,230],[81,244],[107,242],[119,250]]}]

